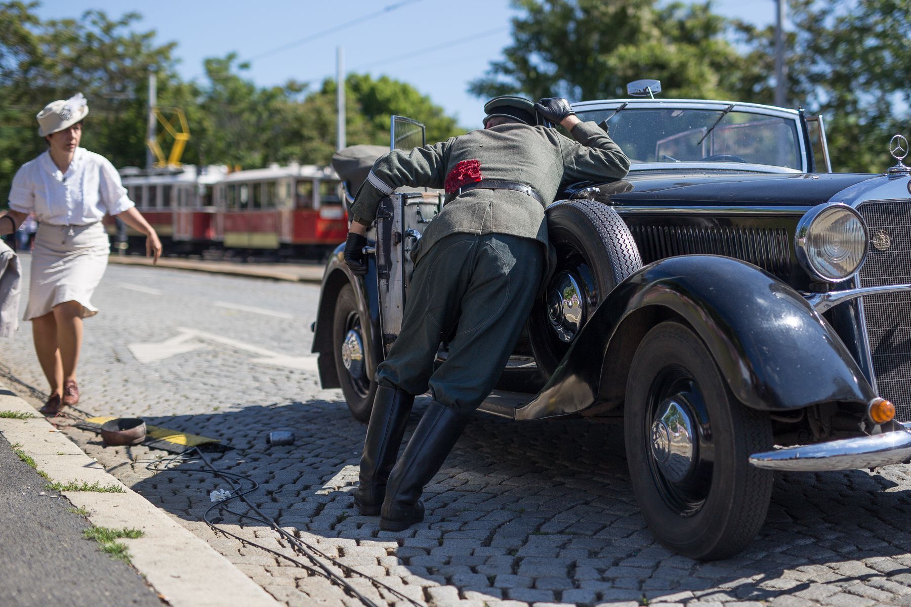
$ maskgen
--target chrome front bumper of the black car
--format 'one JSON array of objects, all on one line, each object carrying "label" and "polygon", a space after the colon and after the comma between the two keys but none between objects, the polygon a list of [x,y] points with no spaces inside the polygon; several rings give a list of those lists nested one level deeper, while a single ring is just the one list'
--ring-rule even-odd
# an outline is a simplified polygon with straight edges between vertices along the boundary
[{"label": "chrome front bumper of the black car", "polygon": [[754,453],[750,463],[768,470],[824,472],[876,468],[911,459],[911,430]]}]

